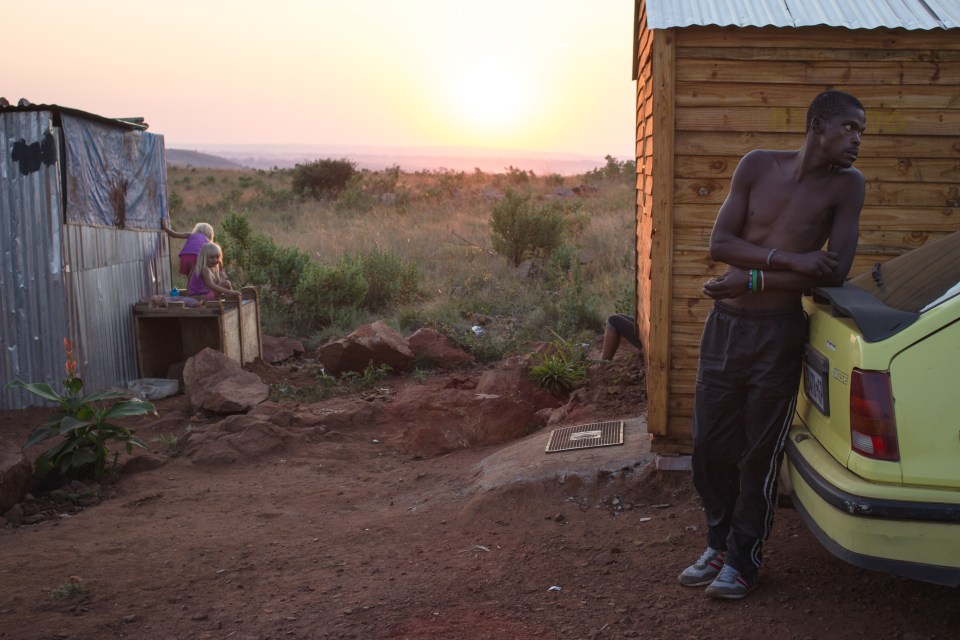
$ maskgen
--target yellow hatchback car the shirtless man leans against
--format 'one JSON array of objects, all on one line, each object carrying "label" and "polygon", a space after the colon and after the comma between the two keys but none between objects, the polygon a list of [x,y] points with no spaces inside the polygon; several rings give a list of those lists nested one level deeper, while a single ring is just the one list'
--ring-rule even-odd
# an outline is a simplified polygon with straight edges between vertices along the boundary
[{"label": "yellow hatchback car the shirtless man leans against", "polygon": [[804,307],[785,492],[837,557],[960,586],[960,232]]}]

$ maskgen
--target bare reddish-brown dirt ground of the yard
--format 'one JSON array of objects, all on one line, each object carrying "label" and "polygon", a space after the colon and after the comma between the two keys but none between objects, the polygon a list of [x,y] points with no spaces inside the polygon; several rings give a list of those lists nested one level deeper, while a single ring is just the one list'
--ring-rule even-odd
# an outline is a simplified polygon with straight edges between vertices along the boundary
[{"label": "bare reddish-brown dirt ground of the yard", "polygon": [[[566,423],[624,419],[625,445],[551,454],[553,427],[438,457],[358,427],[200,467],[154,438],[208,418],[159,400],[151,453],[75,488],[89,506],[0,528],[0,638],[958,637],[957,590],[847,565],[787,508],[757,592],[679,586],[703,516],[688,473],[650,464],[640,362],[596,365]],[[44,415],[4,412],[0,437]]]}]

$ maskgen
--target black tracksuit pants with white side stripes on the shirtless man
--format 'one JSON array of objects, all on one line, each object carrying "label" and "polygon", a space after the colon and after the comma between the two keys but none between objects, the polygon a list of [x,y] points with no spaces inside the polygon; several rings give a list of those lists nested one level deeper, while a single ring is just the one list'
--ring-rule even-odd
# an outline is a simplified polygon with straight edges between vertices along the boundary
[{"label": "black tracksuit pants with white side stripes on the shirtless man", "polygon": [[756,576],[770,536],[783,445],[796,407],[807,318],[717,301],[704,325],[693,413],[693,483],[707,543]]}]

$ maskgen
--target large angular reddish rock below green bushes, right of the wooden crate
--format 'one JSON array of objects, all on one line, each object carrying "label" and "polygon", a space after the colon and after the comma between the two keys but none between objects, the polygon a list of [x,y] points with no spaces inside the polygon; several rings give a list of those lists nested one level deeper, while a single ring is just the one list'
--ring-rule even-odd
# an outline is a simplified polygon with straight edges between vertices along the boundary
[{"label": "large angular reddish rock below green bushes, right of the wooden crate", "polygon": [[381,320],[365,324],[346,338],[320,347],[317,359],[324,371],[339,376],[344,371],[362,373],[370,366],[387,365],[403,371],[413,362],[413,352],[398,331]]}]

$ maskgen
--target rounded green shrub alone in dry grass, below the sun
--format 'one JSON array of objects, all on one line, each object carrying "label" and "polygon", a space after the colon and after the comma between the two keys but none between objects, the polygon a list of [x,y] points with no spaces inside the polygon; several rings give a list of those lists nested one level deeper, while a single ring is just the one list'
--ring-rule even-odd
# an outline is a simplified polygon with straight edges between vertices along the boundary
[{"label": "rounded green shrub alone in dry grass, below the sun", "polygon": [[538,206],[531,194],[507,189],[490,216],[493,250],[514,266],[549,256],[563,241],[564,226],[561,206]]}]

